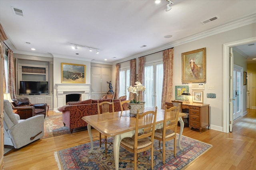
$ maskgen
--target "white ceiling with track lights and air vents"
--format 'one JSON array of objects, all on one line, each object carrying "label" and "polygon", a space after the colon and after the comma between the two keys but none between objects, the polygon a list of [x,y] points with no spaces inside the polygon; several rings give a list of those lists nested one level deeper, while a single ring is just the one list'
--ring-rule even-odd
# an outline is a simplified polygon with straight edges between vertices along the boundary
[{"label": "white ceiling with track lights and air vents", "polygon": [[[166,0],[0,0],[0,23],[8,36],[5,43],[15,53],[114,63],[174,47],[199,33],[249,24],[241,22],[248,18],[256,22],[256,0],[172,2],[166,12]],[[96,48],[99,54],[86,47],[72,49],[71,43]],[[238,48],[256,58],[255,46],[254,51],[248,45]]]}]

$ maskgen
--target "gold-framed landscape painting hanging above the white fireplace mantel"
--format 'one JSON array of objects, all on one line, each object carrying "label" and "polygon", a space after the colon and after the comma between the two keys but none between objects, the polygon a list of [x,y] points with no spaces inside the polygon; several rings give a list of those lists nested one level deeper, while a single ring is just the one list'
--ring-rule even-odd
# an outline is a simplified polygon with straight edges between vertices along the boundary
[{"label": "gold-framed landscape painting hanging above the white fireplace mantel", "polygon": [[86,65],[61,63],[61,83],[85,83]]}]

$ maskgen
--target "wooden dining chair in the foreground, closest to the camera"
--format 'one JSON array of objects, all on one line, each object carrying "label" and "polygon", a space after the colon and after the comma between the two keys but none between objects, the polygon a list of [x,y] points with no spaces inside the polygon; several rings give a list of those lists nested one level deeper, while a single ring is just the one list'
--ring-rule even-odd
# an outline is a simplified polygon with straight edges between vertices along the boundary
[{"label": "wooden dining chair in the foreground, closest to the camera", "polygon": [[[146,111],[142,114],[139,114],[137,111],[136,116],[136,124],[135,124],[135,133],[133,137],[126,137],[122,139],[120,145],[134,153],[134,161],[130,160],[122,160],[125,162],[134,162],[134,170],[137,169],[137,163],[142,164],[151,164],[151,169],[153,170],[154,167],[154,129],[156,125],[156,112],[155,111]],[[139,121],[143,122],[142,127],[139,127]],[[150,137],[150,138],[149,138]],[[137,158],[137,154],[140,152],[144,152],[148,149],[151,149],[151,163],[148,162],[139,162]]]}]

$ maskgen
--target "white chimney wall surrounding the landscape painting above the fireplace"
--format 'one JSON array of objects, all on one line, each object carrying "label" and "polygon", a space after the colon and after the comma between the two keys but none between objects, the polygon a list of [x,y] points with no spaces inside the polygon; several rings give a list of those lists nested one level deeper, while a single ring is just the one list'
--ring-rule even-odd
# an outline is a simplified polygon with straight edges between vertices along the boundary
[{"label": "white chimney wall surrounding the landscape painting above the fireplace", "polygon": [[[64,58],[54,57],[53,58],[54,111],[56,111],[58,109],[55,84],[61,84],[61,63],[86,65],[85,84],[91,84],[91,62],[90,61],[81,61],[81,60],[75,60],[75,59],[64,59]],[[68,83],[65,83],[65,84],[68,84]]]}]

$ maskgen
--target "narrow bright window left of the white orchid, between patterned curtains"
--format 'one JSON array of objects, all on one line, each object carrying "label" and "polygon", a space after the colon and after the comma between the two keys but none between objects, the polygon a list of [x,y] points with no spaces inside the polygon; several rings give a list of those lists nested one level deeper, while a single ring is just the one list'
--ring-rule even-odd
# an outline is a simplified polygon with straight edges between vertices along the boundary
[{"label": "narrow bright window left of the white orchid, between patterned curtains", "polygon": [[129,99],[127,87],[130,86],[130,68],[121,68],[119,72],[119,96]]}]

